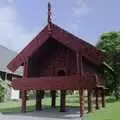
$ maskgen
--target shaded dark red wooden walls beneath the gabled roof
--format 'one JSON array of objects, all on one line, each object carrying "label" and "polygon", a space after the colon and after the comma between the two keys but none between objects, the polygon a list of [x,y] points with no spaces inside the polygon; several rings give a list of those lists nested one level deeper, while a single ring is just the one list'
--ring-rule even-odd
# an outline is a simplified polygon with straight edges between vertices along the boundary
[{"label": "shaded dark red wooden walls beneath the gabled roof", "polygon": [[[55,76],[64,69],[66,75],[75,75],[76,53],[66,46],[49,38],[29,59],[29,77]],[[83,58],[83,70],[85,72],[99,73],[99,67]]]}]

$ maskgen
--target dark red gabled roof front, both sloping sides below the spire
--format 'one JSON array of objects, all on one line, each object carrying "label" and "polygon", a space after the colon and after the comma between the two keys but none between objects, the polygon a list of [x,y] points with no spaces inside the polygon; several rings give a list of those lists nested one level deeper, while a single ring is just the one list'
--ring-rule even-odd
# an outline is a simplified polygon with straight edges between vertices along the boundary
[{"label": "dark red gabled roof front, both sloping sides below the spire", "polygon": [[88,60],[96,64],[101,64],[105,54],[96,47],[83,41],[82,39],[52,24],[51,34],[46,26],[9,64],[8,68],[15,71],[21,66],[38,48],[40,48],[49,37],[54,38],[70,49],[82,53]]}]

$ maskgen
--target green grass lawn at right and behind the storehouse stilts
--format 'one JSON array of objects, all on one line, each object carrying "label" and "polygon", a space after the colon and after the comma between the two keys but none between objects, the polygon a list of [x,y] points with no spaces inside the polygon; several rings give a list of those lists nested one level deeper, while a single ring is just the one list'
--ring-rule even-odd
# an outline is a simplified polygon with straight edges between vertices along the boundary
[{"label": "green grass lawn at right and behind the storehouse stilts", "polygon": [[[59,101],[60,99],[57,97],[57,106],[59,106]],[[45,98],[43,100],[43,106],[46,108],[50,107],[50,102],[50,98]],[[20,103],[20,101],[0,103],[0,112],[20,112]],[[28,101],[27,106],[27,111],[34,111],[35,101]],[[67,106],[79,107],[78,95],[67,95]],[[106,108],[101,108],[90,114],[85,114],[85,120],[120,120],[120,102],[107,103]]]}]

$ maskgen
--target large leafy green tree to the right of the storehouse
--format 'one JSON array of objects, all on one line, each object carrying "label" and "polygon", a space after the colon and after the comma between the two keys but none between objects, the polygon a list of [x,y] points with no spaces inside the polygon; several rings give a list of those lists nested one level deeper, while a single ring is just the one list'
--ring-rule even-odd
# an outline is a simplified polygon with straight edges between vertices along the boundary
[{"label": "large leafy green tree to the right of the storehouse", "polygon": [[105,70],[106,84],[110,93],[120,98],[120,32],[103,33],[97,48],[106,52],[106,62],[114,69],[114,75]]}]

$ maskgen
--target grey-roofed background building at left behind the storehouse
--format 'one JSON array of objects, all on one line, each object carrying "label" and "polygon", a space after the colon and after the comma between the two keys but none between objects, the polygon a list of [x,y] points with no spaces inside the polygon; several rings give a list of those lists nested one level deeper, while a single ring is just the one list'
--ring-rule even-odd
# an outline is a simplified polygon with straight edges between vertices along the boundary
[{"label": "grey-roofed background building at left behind the storehouse", "polygon": [[[1,80],[9,80],[12,78],[21,77],[22,76],[22,68],[19,68],[15,73],[12,73],[6,67],[7,64],[17,55],[17,52],[10,50],[2,45],[0,45],[0,78]],[[19,99],[19,91],[14,90],[12,87],[8,86],[7,91],[5,93],[7,99]]]}]

